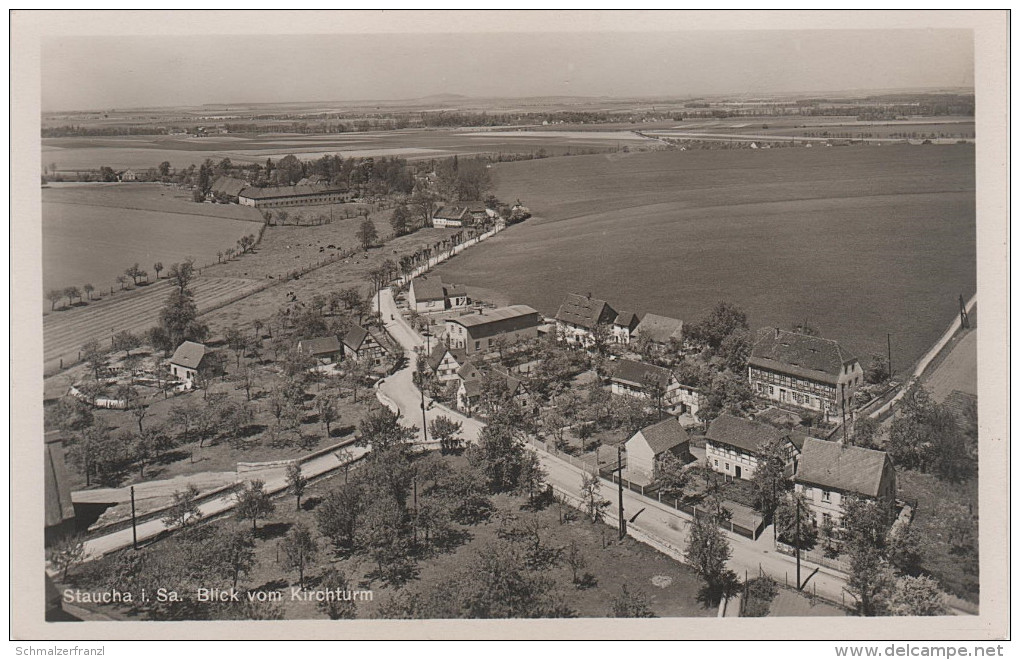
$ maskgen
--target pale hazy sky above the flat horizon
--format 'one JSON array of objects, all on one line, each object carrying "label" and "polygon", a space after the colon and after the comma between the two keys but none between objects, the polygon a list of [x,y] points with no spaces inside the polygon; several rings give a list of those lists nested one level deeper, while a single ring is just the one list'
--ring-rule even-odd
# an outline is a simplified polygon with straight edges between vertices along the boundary
[{"label": "pale hazy sky above the flat horizon", "polygon": [[43,111],[974,84],[970,30],[50,37],[41,66]]}]

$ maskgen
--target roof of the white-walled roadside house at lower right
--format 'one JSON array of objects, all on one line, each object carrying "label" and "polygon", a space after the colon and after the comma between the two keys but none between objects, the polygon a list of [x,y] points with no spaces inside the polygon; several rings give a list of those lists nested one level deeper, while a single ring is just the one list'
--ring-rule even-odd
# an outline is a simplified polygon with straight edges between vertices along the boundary
[{"label": "roof of the white-walled roadside house at lower right", "polygon": [[878,497],[886,461],[885,452],[806,438],[797,480]]}]

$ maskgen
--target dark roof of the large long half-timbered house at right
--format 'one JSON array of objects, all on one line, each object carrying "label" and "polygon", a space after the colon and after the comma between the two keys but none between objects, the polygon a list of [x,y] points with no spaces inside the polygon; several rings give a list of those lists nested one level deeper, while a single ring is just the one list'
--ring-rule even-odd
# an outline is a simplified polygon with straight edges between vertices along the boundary
[{"label": "dark roof of the large long half-timbered house at right", "polygon": [[832,340],[769,328],[759,334],[748,363],[751,366],[834,385],[843,367],[857,361]]}]

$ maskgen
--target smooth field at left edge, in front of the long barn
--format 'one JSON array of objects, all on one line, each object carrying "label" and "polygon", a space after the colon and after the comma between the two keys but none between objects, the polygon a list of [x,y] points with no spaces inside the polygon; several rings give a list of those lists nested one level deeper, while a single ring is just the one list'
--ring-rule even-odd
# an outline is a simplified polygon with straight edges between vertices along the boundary
[{"label": "smooth field at left edge, in front of the long barn", "polygon": [[139,263],[188,257],[216,261],[216,252],[257,234],[258,211],[224,204],[196,204],[157,184],[80,186],[43,190],[43,286],[45,289],[116,287],[115,277]]}]

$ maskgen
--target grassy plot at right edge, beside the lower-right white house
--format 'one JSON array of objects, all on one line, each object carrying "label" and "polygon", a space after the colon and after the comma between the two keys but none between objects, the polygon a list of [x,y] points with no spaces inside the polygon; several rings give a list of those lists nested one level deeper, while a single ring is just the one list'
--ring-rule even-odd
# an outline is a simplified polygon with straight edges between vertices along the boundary
[{"label": "grassy plot at right edge, beside the lower-right white house", "polygon": [[[900,497],[916,499],[912,527],[920,535],[922,569],[942,589],[959,598],[978,602],[978,495],[977,478],[954,485],[913,470],[897,473]],[[956,524],[969,529],[970,551],[954,548]]]}]

